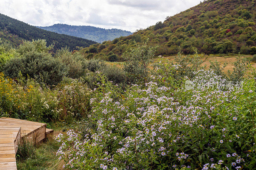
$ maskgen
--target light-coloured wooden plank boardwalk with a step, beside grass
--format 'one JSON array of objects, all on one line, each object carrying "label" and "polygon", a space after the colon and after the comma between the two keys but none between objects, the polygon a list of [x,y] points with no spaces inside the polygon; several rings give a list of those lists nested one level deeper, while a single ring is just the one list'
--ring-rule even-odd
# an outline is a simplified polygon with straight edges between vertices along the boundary
[{"label": "light-coloured wooden plank boardwalk with a step, beside grass", "polygon": [[15,154],[24,140],[38,143],[51,138],[53,130],[46,124],[27,120],[0,118],[0,170],[16,170]]}]

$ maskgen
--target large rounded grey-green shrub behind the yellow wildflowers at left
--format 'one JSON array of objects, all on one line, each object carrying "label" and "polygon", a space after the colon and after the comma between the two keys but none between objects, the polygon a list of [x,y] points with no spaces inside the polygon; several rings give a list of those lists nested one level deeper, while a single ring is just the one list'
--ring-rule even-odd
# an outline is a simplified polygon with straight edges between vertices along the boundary
[{"label": "large rounded grey-green shrub behind the yellow wildflowers at left", "polygon": [[21,73],[25,78],[42,79],[47,85],[57,85],[66,75],[65,66],[47,53],[36,51],[24,53],[21,57],[8,60],[4,72],[12,78]]}]

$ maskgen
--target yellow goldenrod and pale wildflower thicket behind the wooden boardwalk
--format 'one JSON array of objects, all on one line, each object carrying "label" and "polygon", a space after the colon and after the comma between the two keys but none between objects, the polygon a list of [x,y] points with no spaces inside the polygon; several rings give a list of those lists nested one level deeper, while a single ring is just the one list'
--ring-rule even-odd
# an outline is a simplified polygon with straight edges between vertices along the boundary
[{"label": "yellow goldenrod and pale wildflower thicket behind the wooden boardwalk", "polygon": [[33,79],[13,81],[0,73],[0,117],[44,122],[84,117],[90,109],[90,91],[77,79],[67,78],[49,89]]}]

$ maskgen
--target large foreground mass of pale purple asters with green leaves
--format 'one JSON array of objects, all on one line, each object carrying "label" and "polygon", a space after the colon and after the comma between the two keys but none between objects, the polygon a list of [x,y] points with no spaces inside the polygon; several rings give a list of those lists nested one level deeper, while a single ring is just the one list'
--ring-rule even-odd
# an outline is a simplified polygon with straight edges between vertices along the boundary
[{"label": "large foreground mass of pale purple asters with green leaves", "polygon": [[[146,87],[120,89],[99,74],[92,112],[82,130],[56,140],[71,169],[253,169],[256,164],[255,79],[243,89],[227,86],[187,90],[180,66],[159,64]],[[163,69],[162,69],[163,68]],[[213,70],[190,81],[224,82]],[[207,86],[206,86],[207,87]]]}]

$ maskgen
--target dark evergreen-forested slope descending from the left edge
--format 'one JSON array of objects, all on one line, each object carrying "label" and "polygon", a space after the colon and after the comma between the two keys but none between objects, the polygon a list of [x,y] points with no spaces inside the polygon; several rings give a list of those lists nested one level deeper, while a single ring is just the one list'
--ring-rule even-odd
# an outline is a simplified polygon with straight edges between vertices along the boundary
[{"label": "dark evergreen-forested slope descending from the left edge", "polygon": [[75,50],[77,46],[87,47],[96,43],[88,39],[45,31],[3,14],[0,14],[0,38],[15,46],[20,45],[22,40],[45,39],[47,46],[54,45],[54,50],[66,46]]}]

